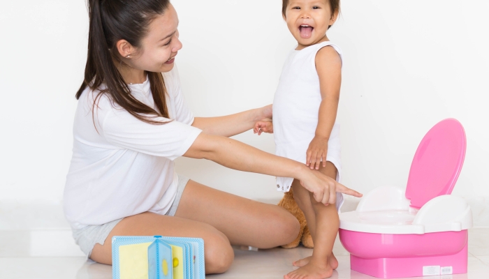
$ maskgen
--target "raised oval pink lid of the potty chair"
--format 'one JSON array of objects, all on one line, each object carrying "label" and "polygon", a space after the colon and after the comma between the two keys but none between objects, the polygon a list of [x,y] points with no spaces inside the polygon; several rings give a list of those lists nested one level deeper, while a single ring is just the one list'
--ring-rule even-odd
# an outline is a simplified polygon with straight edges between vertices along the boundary
[{"label": "raised oval pink lid of the potty chair", "polygon": [[456,119],[440,121],[428,131],[409,170],[406,198],[411,199],[411,207],[421,209],[430,199],[452,193],[466,147],[465,130]]}]

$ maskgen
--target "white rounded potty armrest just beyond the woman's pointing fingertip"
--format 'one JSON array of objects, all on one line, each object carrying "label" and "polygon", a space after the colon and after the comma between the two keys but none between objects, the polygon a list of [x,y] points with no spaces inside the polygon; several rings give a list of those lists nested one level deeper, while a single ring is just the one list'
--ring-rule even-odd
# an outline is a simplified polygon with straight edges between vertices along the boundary
[{"label": "white rounded potty armrest just beyond the woman's pointing fingertip", "polygon": [[394,186],[375,188],[367,193],[358,204],[357,212],[409,210],[409,199],[404,189]]}]

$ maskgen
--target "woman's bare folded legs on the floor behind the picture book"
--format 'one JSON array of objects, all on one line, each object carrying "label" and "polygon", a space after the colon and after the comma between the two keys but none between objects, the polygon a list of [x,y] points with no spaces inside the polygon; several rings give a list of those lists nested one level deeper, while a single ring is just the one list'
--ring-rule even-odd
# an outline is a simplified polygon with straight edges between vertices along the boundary
[{"label": "woman's bare folded legs on the floor behind the picture book", "polygon": [[112,229],[103,246],[94,246],[91,259],[112,264],[112,236],[198,237],[205,243],[205,273],[223,273],[233,262],[231,243],[272,248],[293,241],[299,229],[298,220],[279,206],[189,181],[175,217],[155,213],[126,217]]}]

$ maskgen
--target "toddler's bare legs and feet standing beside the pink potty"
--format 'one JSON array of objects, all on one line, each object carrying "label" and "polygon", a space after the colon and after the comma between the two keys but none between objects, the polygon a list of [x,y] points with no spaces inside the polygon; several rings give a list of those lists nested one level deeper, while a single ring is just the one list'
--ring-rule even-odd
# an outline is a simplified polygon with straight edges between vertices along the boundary
[{"label": "toddler's bare legs and feet standing beside the pink potty", "polygon": [[[336,176],[336,168],[330,162],[327,162],[326,167],[319,171],[328,176]],[[312,194],[300,186],[298,181],[294,181],[292,189],[296,202],[304,211],[314,241],[314,251],[312,257],[294,262],[295,266],[302,267],[287,274],[284,278],[328,278],[338,265],[332,252],[340,224],[336,205],[324,206],[324,204],[316,202]]]}]

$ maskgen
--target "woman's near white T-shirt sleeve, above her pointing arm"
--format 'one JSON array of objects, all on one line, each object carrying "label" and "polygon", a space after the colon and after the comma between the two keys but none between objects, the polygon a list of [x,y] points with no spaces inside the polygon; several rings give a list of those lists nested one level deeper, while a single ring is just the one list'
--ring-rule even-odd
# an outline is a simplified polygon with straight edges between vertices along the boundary
[{"label": "woman's near white T-shirt sleeve, above her pointing arm", "polygon": [[[158,117],[159,121],[170,121]],[[140,121],[125,110],[114,109],[103,120],[105,140],[122,149],[130,149],[170,160],[182,156],[202,130],[180,121],[154,125]]]}]

